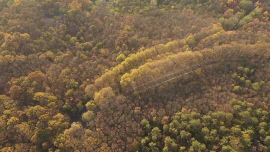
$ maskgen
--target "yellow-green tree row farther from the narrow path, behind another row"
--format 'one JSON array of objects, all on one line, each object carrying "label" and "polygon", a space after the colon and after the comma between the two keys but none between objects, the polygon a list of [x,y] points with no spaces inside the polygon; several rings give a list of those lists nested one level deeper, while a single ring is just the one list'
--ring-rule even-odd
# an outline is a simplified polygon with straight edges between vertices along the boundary
[{"label": "yellow-green tree row farther from the narrow path, behind another row", "polygon": [[[166,53],[177,53],[184,51],[188,48],[192,48],[196,43],[200,42],[204,38],[216,34],[220,31],[223,31],[220,24],[213,24],[207,27],[202,28],[201,31],[196,32],[194,35],[190,34],[185,38],[179,40],[169,41],[166,44],[158,44],[150,48],[144,47],[139,49],[139,52],[136,54],[131,54],[129,57],[126,57],[123,54],[120,54],[117,58],[123,60],[120,64],[113,67],[111,70],[106,71],[99,78],[95,79],[95,86],[97,88],[102,88],[104,86],[116,86],[119,84],[120,77],[125,72],[128,72],[132,68],[136,68],[139,65],[147,62],[148,59],[158,59],[160,55]],[[116,58],[116,59],[117,59]]]}]

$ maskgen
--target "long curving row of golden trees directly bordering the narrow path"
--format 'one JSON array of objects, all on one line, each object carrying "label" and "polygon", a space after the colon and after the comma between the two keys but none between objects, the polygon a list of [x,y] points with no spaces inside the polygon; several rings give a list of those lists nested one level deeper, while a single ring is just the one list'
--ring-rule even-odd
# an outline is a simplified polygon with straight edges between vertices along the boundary
[{"label": "long curving row of golden trees directly bordering the narrow path", "polygon": [[[196,64],[214,61],[213,63],[227,62],[261,62],[270,57],[267,49],[268,43],[257,43],[254,45],[224,44],[213,48],[206,48],[201,53],[196,51],[184,51],[174,55],[168,55],[159,60],[147,62],[138,68],[132,69],[130,73],[122,75],[120,84],[124,91],[134,89],[140,85],[160,79],[174,72],[192,67]],[[202,64],[203,66],[203,64]]]}]

